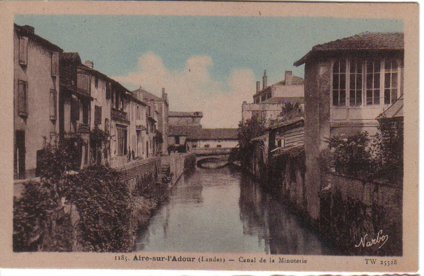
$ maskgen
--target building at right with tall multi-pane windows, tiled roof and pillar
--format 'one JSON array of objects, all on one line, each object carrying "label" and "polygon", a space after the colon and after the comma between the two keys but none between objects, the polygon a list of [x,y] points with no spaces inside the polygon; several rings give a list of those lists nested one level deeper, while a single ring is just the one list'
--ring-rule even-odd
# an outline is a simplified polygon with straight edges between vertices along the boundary
[{"label": "building at right with tall multi-pane windows, tiled roof and pillar", "polygon": [[361,33],[315,45],[305,65],[306,198],[319,215],[320,150],[332,135],[374,134],[376,118],[403,95],[403,33]]}]

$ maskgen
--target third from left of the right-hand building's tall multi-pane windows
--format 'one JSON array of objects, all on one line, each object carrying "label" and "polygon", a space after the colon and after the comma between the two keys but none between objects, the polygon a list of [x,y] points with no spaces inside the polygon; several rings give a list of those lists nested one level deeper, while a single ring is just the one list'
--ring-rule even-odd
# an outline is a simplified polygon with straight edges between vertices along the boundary
[{"label": "third from left of the right-hand building's tall multi-pane windows", "polygon": [[366,105],[380,104],[380,60],[366,61]]}]

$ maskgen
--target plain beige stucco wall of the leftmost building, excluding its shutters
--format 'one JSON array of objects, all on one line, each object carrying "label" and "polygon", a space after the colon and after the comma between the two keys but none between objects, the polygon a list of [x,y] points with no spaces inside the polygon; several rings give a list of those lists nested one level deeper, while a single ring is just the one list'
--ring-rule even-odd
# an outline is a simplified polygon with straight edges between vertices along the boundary
[{"label": "plain beige stucco wall of the leftmost building, excluding its shutters", "polygon": [[[14,130],[25,131],[25,178],[35,176],[37,150],[44,146],[50,133],[59,132],[59,118],[50,120],[50,89],[56,90],[56,106],[59,98],[59,68],[57,76],[51,76],[52,50],[41,46],[29,38],[28,60],[26,66],[19,64],[19,38],[14,32]],[[57,52],[58,53],[58,52]],[[59,54],[57,55],[59,57]],[[57,62],[59,64],[59,60]],[[28,117],[19,116],[18,89],[19,80],[26,81]],[[15,132],[16,133],[16,132]],[[15,141],[14,133],[14,142]]]}]

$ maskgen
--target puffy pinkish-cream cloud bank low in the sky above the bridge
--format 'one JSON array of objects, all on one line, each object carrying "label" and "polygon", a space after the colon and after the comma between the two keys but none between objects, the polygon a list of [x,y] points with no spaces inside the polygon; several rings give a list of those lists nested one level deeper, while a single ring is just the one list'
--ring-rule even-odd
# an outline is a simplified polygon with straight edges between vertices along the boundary
[{"label": "puffy pinkish-cream cloud bank low in the sky above the bridge", "polygon": [[160,95],[165,87],[171,111],[202,111],[203,127],[237,127],[242,118],[242,102],[251,102],[255,90],[250,69],[234,68],[224,82],[210,77],[213,60],[195,56],[186,61],[183,70],[168,70],[153,52],[143,54],[134,72],[115,76],[115,80],[141,86]]}]

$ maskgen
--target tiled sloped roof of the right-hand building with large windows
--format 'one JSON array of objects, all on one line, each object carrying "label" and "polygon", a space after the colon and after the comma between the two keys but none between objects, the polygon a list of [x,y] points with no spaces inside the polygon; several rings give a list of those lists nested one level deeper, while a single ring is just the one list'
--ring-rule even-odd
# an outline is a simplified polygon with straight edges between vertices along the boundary
[{"label": "tiled sloped roof of the right-hand building with large windows", "polygon": [[337,39],[312,47],[305,56],[294,63],[300,66],[314,52],[331,50],[403,50],[404,33],[370,33],[364,32],[351,37]]}]

